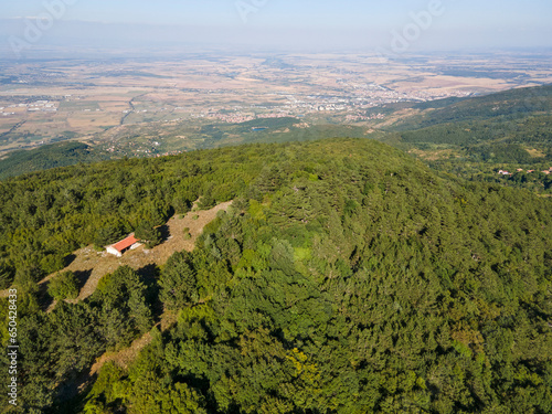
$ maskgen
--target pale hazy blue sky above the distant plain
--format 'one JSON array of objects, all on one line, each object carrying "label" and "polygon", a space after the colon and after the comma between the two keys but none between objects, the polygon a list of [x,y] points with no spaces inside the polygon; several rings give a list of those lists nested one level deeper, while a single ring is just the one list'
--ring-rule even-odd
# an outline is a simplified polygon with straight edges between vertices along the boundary
[{"label": "pale hazy blue sky above the distant plain", "polygon": [[363,50],[552,46],[550,0],[0,0],[0,49]]}]

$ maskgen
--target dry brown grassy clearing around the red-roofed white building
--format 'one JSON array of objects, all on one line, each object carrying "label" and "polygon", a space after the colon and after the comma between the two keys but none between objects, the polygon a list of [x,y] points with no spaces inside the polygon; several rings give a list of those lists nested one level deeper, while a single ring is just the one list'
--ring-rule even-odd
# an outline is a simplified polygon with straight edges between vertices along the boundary
[{"label": "dry brown grassy clearing around the red-roofed white building", "polygon": [[[182,219],[171,217],[166,226],[168,238],[151,250],[140,246],[134,251],[127,252],[123,257],[116,257],[108,253],[97,252],[93,246],[87,246],[74,252],[75,259],[60,272],[71,270],[81,282],[81,290],[77,299],[72,302],[83,300],[91,296],[98,286],[99,279],[105,275],[115,272],[119,266],[128,265],[134,269],[139,269],[148,265],[162,265],[174,253],[183,250],[191,252],[195,240],[203,232],[203,227],[216,217],[216,213],[226,210],[232,201],[221,203],[211,210],[189,212]],[[194,220],[193,217],[197,216]],[[191,238],[184,240],[184,229],[190,229]],[[47,283],[55,274],[46,276],[39,284]],[[0,291],[0,297],[7,297],[9,290]],[[53,309],[53,302],[47,310]]]}]

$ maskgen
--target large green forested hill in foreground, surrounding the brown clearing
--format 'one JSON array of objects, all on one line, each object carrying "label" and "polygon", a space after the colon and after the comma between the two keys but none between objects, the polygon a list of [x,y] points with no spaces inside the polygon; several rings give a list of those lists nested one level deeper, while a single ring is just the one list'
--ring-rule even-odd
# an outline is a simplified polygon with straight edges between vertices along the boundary
[{"label": "large green forested hill in foreground, surrounding the brown clearing", "polygon": [[[193,253],[119,268],[88,299],[40,310],[32,282],[65,254],[157,225],[198,197],[203,208],[234,202]],[[365,139],[10,179],[0,252],[20,295],[18,410],[549,413],[550,208]],[[152,328],[161,311],[178,315],[163,331]],[[68,397],[96,358],[147,331],[134,362],[104,365]]]}]

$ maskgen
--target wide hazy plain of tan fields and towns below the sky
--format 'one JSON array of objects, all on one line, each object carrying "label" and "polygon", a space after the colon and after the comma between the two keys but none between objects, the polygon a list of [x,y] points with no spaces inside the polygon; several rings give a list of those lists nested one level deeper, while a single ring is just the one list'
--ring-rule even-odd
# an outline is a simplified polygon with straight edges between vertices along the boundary
[{"label": "wide hazy plain of tan fields and towns below the sky", "polygon": [[151,157],[320,130],[323,137],[337,125],[365,136],[416,115],[413,103],[550,83],[551,60],[296,53],[3,64],[0,157],[67,139]]}]

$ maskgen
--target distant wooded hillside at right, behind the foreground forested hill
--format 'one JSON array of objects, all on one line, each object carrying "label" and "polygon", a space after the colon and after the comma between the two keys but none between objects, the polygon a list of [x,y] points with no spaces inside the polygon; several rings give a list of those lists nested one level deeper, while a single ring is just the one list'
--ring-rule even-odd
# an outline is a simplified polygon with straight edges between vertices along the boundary
[{"label": "distant wooded hillside at right, behind the foreground forested hill", "polygon": [[552,177],[543,173],[552,167],[552,85],[412,108],[421,112],[386,127],[385,142],[466,180],[552,193]]}]

